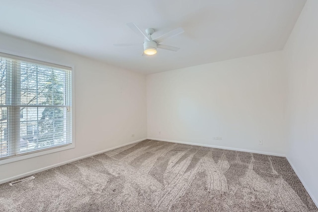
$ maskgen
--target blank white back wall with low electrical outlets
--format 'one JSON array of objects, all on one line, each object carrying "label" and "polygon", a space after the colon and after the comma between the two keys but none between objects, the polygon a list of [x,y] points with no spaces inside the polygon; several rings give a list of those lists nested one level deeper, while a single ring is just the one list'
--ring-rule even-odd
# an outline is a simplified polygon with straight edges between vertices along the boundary
[{"label": "blank white back wall with low electrical outlets", "polygon": [[148,137],[284,155],[284,74],[280,51],[147,75]]}]

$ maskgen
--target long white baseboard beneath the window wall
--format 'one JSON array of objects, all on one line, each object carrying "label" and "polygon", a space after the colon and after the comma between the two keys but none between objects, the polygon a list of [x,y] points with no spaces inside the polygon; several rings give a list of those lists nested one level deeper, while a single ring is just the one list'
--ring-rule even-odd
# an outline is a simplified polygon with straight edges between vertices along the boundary
[{"label": "long white baseboard beneath the window wall", "polygon": [[58,167],[58,166],[62,166],[62,165],[64,165],[64,164],[71,163],[71,162],[74,162],[74,161],[76,161],[76,160],[80,160],[80,159],[83,159],[83,158],[86,158],[86,157],[90,157],[90,156],[93,156],[93,155],[96,155],[96,154],[104,153],[104,152],[106,152],[106,151],[110,151],[110,150],[113,150],[113,149],[115,149],[115,148],[127,146],[127,145],[129,145],[129,144],[137,143],[137,142],[139,142],[139,141],[144,141],[144,140],[146,140],[146,139],[147,139],[147,138],[145,138],[145,139],[140,139],[140,140],[137,140],[137,141],[132,141],[132,142],[125,143],[125,144],[122,144],[122,145],[119,145],[119,146],[115,146],[115,147],[112,147],[112,148],[104,149],[104,150],[102,150],[102,151],[97,151],[97,152],[94,152],[94,153],[91,153],[91,154],[86,154],[86,155],[84,155],[84,156],[77,157],[77,158],[74,158],[74,159],[72,159],[72,160],[67,160],[67,161],[64,161],[64,162],[61,162],[61,163],[56,163],[56,164],[54,164],[54,165],[50,165],[50,166],[47,166],[47,167],[44,167],[44,168],[36,169],[36,170],[30,171],[30,172],[26,172],[26,173],[19,174],[19,175],[13,176],[13,177],[9,177],[9,178],[0,180],[0,184],[2,184],[2,183],[7,183],[7,182],[9,182],[9,181],[16,180],[16,179],[19,179],[19,178],[22,178],[22,177],[26,177],[26,176],[29,176],[29,175],[32,175],[32,174],[36,174],[36,173],[39,173],[39,172],[41,172],[41,171],[45,171],[45,170],[48,170],[48,169],[51,169],[51,168],[55,168],[55,167]]}]

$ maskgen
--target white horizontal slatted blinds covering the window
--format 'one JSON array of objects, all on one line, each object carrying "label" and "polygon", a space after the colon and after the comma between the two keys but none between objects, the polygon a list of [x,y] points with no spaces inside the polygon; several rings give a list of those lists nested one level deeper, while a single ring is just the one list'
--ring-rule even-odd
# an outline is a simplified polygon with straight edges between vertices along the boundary
[{"label": "white horizontal slatted blinds covering the window", "polygon": [[0,53],[0,159],[72,143],[71,74]]}]

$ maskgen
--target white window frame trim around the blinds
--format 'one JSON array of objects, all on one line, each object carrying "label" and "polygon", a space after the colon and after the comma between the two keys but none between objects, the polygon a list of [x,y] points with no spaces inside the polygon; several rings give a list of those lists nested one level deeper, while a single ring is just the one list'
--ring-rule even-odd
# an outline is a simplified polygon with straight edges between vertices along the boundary
[{"label": "white window frame trim around the blinds", "polygon": [[72,115],[71,143],[38,149],[38,150],[34,150],[27,153],[20,153],[15,156],[3,157],[0,159],[0,165],[75,148],[75,66],[70,64],[63,64],[60,61],[56,62],[56,61],[47,60],[47,59],[43,60],[42,58],[39,58],[39,57],[29,56],[23,53],[11,52],[7,50],[3,50],[3,49],[0,49],[0,57],[17,59],[17,60],[30,62],[30,63],[38,63],[42,65],[52,66],[55,68],[62,68],[62,69],[65,69],[65,67],[70,68],[71,69],[71,107],[70,109],[71,109],[71,115]]}]

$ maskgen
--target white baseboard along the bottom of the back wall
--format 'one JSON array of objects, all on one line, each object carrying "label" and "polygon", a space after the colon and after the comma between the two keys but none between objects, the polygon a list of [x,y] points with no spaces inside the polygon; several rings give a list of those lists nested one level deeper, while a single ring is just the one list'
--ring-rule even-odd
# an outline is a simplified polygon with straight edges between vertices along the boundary
[{"label": "white baseboard along the bottom of the back wall", "polygon": [[220,148],[220,149],[229,149],[229,150],[235,150],[235,151],[245,151],[245,152],[251,152],[251,153],[258,153],[258,154],[267,154],[267,155],[274,155],[274,156],[280,156],[285,157],[285,154],[277,154],[273,152],[266,152],[266,151],[255,151],[250,149],[240,149],[240,148],[232,148],[232,147],[226,147],[226,146],[217,146],[217,145],[210,145],[210,144],[201,144],[201,143],[192,143],[192,142],[183,142],[183,141],[172,141],[172,140],[166,140],[166,139],[156,139],[156,138],[148,138],[150,140],[156,140],[156,141],[167,141],[172,143],[183,143],[183,144],[190,144],[190,145],[196,145],[196,146],[206,146],[206,147],[212,147],[212,148]]}]

